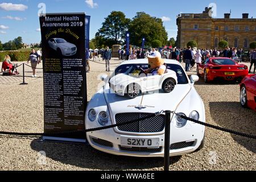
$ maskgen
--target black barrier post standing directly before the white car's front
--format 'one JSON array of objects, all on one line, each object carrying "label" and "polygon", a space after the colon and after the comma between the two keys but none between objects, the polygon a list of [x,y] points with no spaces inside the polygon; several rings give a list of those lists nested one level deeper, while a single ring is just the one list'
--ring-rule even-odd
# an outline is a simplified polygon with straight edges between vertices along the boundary
[{"label": "black barrier post standing directly before the white car's front", "polygon": [[164,131],[164,171],[169,171],[170,167],[170,125],[171,111],[166,111],[166,125]]}]

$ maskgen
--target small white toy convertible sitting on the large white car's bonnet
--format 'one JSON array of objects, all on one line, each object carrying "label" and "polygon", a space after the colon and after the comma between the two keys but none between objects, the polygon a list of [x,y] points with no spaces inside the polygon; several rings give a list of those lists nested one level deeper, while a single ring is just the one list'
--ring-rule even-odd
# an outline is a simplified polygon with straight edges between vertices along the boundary
[{"label": "small white toy convertible sitting on the large white car's bonnet", "polygon": [[[123,67],[127,67],[123,65]],[[121,68],[123,69],[123,68]],[[164,75],[146,74],[143,65],[132,65],[127,72],[119,73],[110,79],[110,88],[115,94],[133,99],[140,93],[163,89],[165,93],[174,90],[177,84],[176,72],[167,70]]]}]

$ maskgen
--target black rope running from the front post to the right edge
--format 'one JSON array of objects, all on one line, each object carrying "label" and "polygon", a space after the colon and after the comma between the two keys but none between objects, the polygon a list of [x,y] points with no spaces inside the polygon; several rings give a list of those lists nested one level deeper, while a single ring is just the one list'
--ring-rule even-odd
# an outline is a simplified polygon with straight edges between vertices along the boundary
[{"label": "black rope running from the front post to the right edge", "polygon": [[[176,114],[176,113],[175,113]],[[179,117],[183,118],[183,119],[187,119],[188,121],[192,121],[194,123],[197,123],[199,125],[204,125],[204,126],[207,126],[207,127],[210,127],[212,129],[216,129],[216,130],[220,130],[220,131],[225,131],[227,133],[231,133],[231,134],[234,134],[234,135],[240,135],[242,137],[247,137],[247,138],[253,138],[253,139],[256,139],[256,136],[255,135],[251,135],[251,134],[245,134],[245,133],[241,133],[241,132],[238,132],[238,131],[234,131],[234,130],[229,130],[229,129],[225,129],[223,127],[220,127],[220,126],[214,126],[214,125],[210,125],[208,123],[204,123],[204,122],[201,122],[201,121],[197,121],[195,119],[192,119],[192,118],[188,118],[184,115],[180,115],[180,114],[176,114],[176,115],[179,115]]]}]

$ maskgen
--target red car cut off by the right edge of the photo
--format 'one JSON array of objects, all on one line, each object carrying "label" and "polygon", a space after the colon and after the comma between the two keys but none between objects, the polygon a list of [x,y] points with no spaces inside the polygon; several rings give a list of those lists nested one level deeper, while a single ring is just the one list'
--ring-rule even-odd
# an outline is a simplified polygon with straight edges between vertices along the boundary
[{"label": "red car cut off by the right edge of the photo", "polygon": [[247,75],[240,84],[240,102],[256,111],[256,75]]}]

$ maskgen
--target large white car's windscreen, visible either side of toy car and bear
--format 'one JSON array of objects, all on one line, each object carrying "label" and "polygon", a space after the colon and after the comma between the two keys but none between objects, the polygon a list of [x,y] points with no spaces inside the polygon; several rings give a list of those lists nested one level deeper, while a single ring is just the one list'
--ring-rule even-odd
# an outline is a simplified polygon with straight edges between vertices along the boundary
[{"label": "large white car's windscreen, visible either side of toy car and bear", "polygon": [[[119,74],[125,74],[129,75],[131,73],[134,73],[135,70],[139,69],[148,69],[148,64],[125,64],[120,65],[115,69],[115,72],[112,74],[111,78],[113,78],[116,75]],[[170,69],[174,71],[177,75],[177,81],[178,84],[188,84],[188,79],[186,73],[183,71],[183,69],[180,67],[180,65],[177,64],[167,64],[167,69]]]}]

